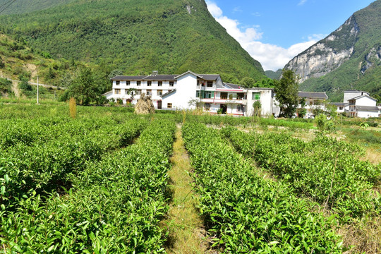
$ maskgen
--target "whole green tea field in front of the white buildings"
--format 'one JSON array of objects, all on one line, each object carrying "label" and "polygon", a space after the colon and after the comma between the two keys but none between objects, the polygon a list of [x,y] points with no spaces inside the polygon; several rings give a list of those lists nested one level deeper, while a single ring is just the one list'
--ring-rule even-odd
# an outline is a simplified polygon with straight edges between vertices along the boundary
[{"label": "whole green tea field in front of the white buildings", "polygon": [[0,253],[380,253],[377,128],[0,103]]}]

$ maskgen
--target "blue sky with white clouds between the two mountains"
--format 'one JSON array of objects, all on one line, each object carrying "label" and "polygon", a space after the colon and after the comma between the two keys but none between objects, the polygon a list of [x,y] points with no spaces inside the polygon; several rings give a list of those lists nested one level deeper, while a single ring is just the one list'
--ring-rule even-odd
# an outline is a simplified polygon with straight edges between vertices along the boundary
[{"label": "blue sky with white clouds between the two mountains", "polygon": [[265,71],[277,71],[374,0],[206,0],[212,16]]}]

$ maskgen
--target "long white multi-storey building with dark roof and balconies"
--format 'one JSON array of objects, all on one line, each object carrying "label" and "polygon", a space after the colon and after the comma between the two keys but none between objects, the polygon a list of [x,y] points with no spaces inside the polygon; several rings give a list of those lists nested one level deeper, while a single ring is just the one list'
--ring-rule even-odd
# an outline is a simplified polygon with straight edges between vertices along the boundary
[{"label": "long white multi-storey building with dark roof and balconies", "polygon": [[[140,95],[150,95],[157,109],[195,109],[202,107],[211,114],[250,116],[253,102],[260,100],[261,115],[272,114],[274,91],[271,88],[244,88],[224,83],[218,74],[116,76],[111,78],[112,91],[107,99],[121,99],[135,104]],[[133,96],[131,96],[133,93]],[[249,98],[248,98],[249,96]]]}]

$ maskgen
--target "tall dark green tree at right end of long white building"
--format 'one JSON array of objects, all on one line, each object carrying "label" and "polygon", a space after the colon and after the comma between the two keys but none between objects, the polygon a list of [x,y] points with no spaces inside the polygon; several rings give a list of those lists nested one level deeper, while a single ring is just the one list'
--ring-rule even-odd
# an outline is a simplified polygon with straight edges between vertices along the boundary
[{"label": "tall dark green tree at right end of long white building", "polygon": [[291,118],[298,107],[298,81],[294,71],[283,70],[282,78],[275,84],[274,92],[281,109],[281,115]]}]

